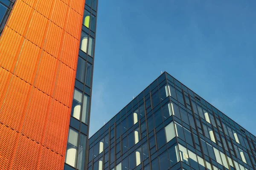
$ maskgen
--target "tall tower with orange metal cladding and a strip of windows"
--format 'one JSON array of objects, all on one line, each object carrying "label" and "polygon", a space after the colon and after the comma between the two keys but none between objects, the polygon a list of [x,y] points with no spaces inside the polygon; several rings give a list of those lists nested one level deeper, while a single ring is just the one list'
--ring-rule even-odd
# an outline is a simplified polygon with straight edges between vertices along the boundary
[{"label": "tall tower with orange metal cladding and a strip of windows", "polygon": [[96,9],[0,0],[1,170],[87,169]]}]

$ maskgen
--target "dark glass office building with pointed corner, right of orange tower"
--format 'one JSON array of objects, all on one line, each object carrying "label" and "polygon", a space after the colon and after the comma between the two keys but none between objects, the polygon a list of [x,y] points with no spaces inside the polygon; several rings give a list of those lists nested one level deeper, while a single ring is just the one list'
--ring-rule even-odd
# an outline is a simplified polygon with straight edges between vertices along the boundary
[{"label": "dark glass office building with pointed corner, right of orange tower", "polygon": [[256,137],[164,72],[89,139],[88,170],[255,170]]}]

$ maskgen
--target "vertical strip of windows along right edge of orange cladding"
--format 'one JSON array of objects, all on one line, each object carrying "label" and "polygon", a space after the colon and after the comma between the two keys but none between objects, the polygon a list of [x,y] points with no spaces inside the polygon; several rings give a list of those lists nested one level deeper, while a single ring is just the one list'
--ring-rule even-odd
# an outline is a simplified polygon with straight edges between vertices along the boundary
[{"label": "vertical strip of windows along right edge of orange cladding", "polygon": [[[97,0],[86,0],[64,170],[87,170]],[[93,4],[93,5],[92,5]]]}]

